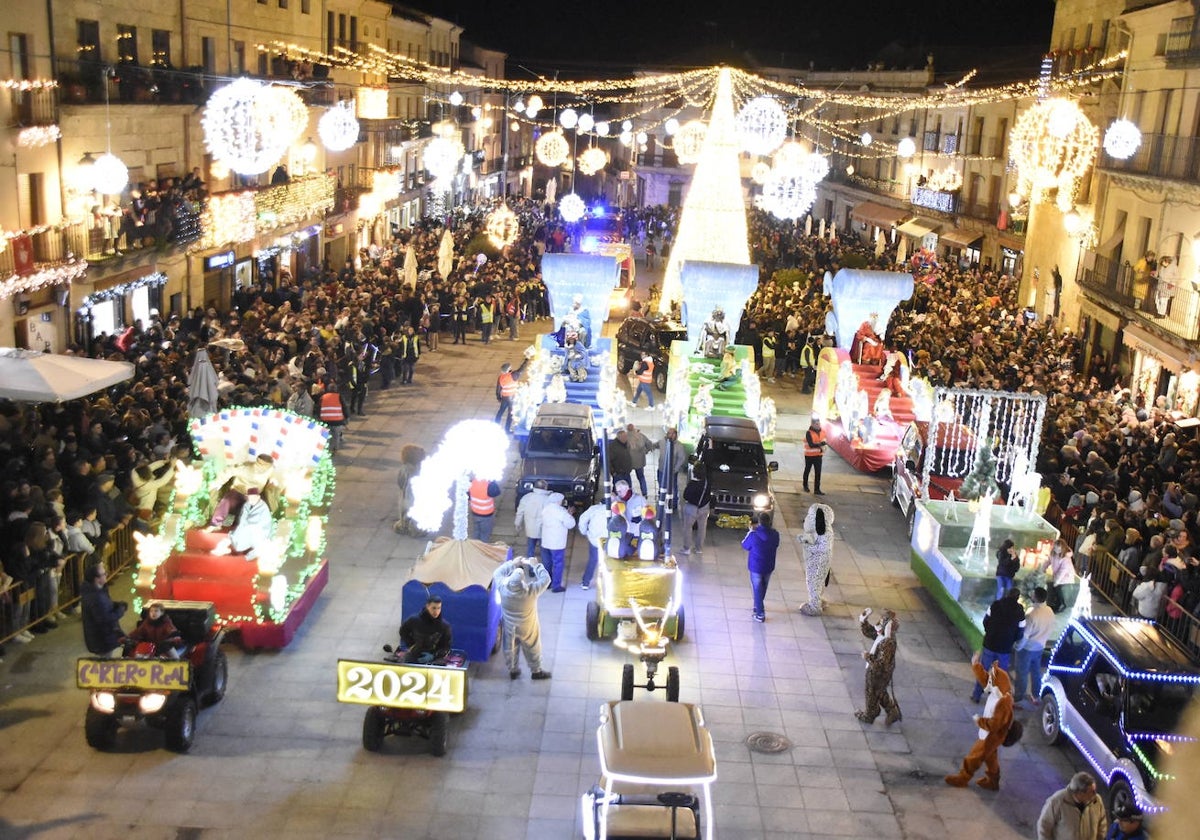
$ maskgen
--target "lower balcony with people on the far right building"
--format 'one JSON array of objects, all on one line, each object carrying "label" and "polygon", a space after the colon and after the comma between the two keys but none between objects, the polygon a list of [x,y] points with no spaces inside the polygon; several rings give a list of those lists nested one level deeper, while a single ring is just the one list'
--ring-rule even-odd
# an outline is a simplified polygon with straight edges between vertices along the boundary
[{"label": "lower balcony with people on the far right building", "polygon": [[1200,290],[1190,281],[1177,281],[1174,290],[1159,286],[1160,281],[1142,286],[1128,262],[1117,263],[1088,251],[1080,260],[1076,282],[1115,304],[1132,320],[1151,324],[1184,341],[1196,341],[1200,334]]}]

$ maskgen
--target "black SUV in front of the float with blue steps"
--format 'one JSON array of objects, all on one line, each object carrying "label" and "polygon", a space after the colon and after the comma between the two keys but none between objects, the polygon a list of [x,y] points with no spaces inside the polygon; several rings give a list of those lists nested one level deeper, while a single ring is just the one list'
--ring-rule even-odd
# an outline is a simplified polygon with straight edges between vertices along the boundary
[{"label": "black SUV in front of the float with blue steps", "polygon": [[524,444],[517,504],[544,479],[552,493],[572,506],[589,508],[600,484],[592,408],[577,402],[547,402],[538,407]]}]

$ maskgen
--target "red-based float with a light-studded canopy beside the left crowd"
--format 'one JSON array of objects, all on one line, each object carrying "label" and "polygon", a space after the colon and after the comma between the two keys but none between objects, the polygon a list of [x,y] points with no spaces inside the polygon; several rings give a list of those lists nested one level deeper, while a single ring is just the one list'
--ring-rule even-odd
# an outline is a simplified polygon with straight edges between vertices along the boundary
[{"label": "red-based float with a light-studded canopy beside the left crowd", "polygon": [[136,535],[133,608],[210,601],[244,647],[286,647],[329,581],[329,430],[263,407],[194,418],[190,433],[196,460],[176,466],[157,532]]}]

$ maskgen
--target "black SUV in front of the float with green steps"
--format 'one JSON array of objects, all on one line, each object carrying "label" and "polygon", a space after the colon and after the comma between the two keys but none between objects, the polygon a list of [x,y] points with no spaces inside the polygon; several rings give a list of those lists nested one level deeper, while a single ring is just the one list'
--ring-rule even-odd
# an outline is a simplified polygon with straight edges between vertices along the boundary
[{"label": "black SUV in front of the float with green steps", "polygon": [[716,516],[754,516],[775,508],[770,474],[779,462],[767,462],[754,420],[709,416],[696,443],[692,463],[703,463]]}]

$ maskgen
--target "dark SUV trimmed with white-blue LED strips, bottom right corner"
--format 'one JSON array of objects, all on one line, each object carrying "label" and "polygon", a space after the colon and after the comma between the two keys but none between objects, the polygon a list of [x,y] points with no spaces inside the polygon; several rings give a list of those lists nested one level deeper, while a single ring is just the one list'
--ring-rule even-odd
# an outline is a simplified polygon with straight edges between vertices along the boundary
[{"label": "dark SUV trimmed with white-blue LED strips, bottom right corner", "polygon": [[1160,811],[1151,794],[1198,688],[1200,665],[1156,623],[1075,618],[1042,678],[1042,734],[1079,748],[1108,782],[1110,814]]}]

